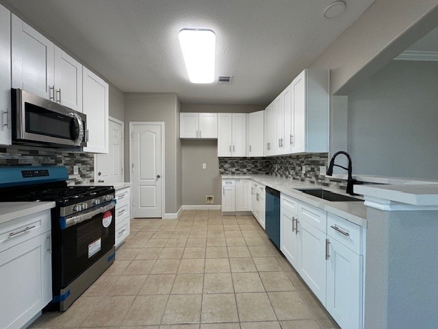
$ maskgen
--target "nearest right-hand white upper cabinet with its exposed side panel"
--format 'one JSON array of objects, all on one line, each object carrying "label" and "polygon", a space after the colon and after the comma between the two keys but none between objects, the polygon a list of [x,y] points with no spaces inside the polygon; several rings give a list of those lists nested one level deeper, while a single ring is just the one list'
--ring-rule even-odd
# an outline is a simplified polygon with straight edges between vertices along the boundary
[{"label": "nearest right-hand white upper cabinet with its exposed side panel", "polygon": [[292,153],[329,151],[329,71],[306,69],[292,82]]}]

